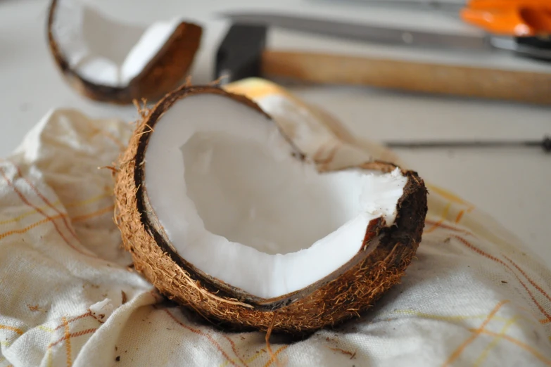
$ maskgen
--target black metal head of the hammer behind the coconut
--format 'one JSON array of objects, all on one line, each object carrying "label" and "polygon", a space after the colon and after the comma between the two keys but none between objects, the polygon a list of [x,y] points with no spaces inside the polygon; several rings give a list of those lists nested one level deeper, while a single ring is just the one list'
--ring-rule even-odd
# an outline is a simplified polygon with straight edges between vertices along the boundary
[{"label": "black metal head of the hammer behind the coconut", "polygon": [[226,84],[246,77],[260,77],[266,44],[265,25],[234,24],[216,53],[215,79]]}]

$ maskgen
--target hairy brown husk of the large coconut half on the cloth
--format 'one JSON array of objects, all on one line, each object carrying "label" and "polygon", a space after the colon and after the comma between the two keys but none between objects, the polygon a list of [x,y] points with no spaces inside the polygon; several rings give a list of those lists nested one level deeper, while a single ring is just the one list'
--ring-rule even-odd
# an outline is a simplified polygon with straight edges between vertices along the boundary
[{"label": "hairy brown husk of the large coconut half on the cloth", "polygon": [[[421,241],[427,210],[424,181],[412,171],[402,172],[407,184],[398,201],[395,223],[387,226],[383,218],[372,220],[357,255],[297,292],[272,299],[255,297],[208,276],[179,257],[148,202],[142,163],[149,136],[163,112],[179,99],[196,94],[218,94],[260,110],[248,98],[215,86],[182,86],[142,114],[115,176],[115,221],[137,271],[168,298],[210,321],[234,328],[273,328],[295,335],[360,316],[400,281]],[[396,166],[365,162],[362,167],[391,172]]]}]

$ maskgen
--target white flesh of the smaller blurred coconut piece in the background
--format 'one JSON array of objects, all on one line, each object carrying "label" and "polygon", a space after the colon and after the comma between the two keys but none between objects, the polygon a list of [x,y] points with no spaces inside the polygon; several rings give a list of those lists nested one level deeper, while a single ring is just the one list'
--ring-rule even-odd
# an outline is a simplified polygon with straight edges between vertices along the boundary
[{"label": "white flesh of the smaller blurred coconut piece in the background", "polygon": [[155,58],[180,20],[148,27],[110,20],[77,0],[58,0],[51,25],[71,70],[87,81],[125,87]]}]

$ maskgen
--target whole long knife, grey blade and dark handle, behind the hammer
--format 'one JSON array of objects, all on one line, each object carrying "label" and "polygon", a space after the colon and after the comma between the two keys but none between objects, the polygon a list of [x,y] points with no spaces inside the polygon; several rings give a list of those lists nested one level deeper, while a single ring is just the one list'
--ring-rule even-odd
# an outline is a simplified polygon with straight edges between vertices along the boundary
[{"label": "whole long knife, grey blade and dark handle, behind the hammer", "polygon": [[[476,10],[471,11],[470,14],[469,16],[472,19],[475,19],[478,15],[480,15],[481,19],[484,18]],[[282,13],[239,12],[224,13],[223,16],[229,18],[234,23],[281,27],[289,30],[356,41],[427,49],[457,49],[481,52],[507,51],[517,53],[521,56],[551,61],[551,41],[543,36],[512,37],[509,34],[493,34],[488,32],[479,32],[478,34],[445,34],[405,27],[393,28],[358,22],[343,22],[327,18],[305,18]],[[523,29],[526,30],[526,28]],[[526,31],[526,34],[528,33]]]}]

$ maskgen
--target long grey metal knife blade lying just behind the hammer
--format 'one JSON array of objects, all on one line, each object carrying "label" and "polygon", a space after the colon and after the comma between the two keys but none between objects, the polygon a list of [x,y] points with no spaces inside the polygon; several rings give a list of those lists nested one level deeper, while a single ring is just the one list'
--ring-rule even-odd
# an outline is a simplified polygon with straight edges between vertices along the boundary
[{"label": "long grey metal knife blade lying just behind the hammer", "polygon": [[462,49],[488,51],[493,49],[484,34],[445,34],[423,30],[391,28],[324,18],[305,18],[277,13],[222,13],[224,18],[246,24],[270,25],[289,30],[323,34],[331,37],[370,41],[388,45],[414,46],[430,49]]}]

